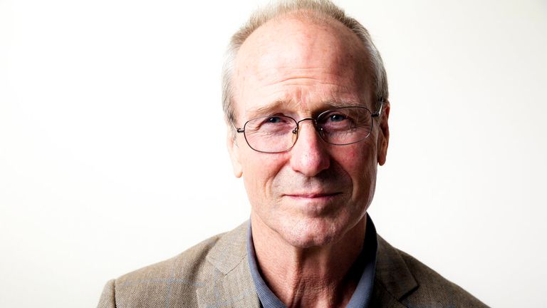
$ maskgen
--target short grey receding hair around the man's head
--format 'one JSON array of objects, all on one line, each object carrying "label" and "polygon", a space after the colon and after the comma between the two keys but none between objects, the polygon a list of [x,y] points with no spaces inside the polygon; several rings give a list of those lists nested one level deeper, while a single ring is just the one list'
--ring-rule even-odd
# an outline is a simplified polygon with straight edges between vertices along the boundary
[{"label": "short grey receding hair around the man's head", "polygon": [[222,108],[227,123],[234,123],[234,93],[233,93],[233,73],[234,61],[237,52],[244,41],[260,26],[266,24],[267,21],[275,19],[291,13],[300,13],[303,16],[315,17],[319,19],[334,19],[339,21],[348,29],[350,29],[360,41],[363,42],[368,51],[375,99],[378,102],[385,101],[388,96],[387,91],[387,76],[385,74],[384,64],[380,57],[370,34],[359,21],[347,16],[343,9],[333,4],[330,0],[285,0],[279,1],[276,4],[270,4],[251,15],[249,21],[231,36],[230,43],[226,50],[224,66],[222,68]]}]

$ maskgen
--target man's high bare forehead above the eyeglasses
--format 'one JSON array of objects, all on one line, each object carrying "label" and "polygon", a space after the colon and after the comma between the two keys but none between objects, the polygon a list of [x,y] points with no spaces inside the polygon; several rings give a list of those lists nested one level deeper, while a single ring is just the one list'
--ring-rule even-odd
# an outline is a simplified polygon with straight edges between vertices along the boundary
[{"label": "man's high bare forehead above the eyeglasses", "polygon": [[[283,16],[246,39],[234,66],[236,114],[270,105],[365,104],[373,93],[363,43],[338,21]],[[307,110],[307,109],[306,109]]]}]

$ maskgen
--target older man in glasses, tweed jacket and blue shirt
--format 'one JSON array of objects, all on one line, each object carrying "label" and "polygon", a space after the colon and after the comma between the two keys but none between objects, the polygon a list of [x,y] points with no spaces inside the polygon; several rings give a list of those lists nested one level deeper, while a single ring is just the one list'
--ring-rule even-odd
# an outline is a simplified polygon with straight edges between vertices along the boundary
[{"label": "older man in glasses, tweed jacket and blue shirt", "polygon": [[108,282],[99,307],[486,307],[376,235],[390,103],[357,21],[328,1],[259,11],[232,38],[224,111],[250,222]]}]

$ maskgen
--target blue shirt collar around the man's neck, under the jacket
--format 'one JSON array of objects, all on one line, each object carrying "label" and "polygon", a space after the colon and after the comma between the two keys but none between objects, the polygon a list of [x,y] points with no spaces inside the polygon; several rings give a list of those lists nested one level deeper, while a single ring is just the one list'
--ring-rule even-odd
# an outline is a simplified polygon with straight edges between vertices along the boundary
[{"label": "blue shirt collar around the man's neck, under the jacket", "polygon": [[[376,252],[377,252],[377,239],[376,228],[374,227],[373,220],[367,214],[367,230],[365,231],[365,243],[363,250],[361,251],[355,263],[363,262],[363,273],[361,278],[351,296],[350,302],[347,308],[368,308],[370,303],[370,297],[373,294],[374,274],[376,270]],[[271,292],[264,279],[262,278],[259,268],[256,265],[256,254],[254,252],[253,235],[251,232],[251,222],[249,222],[249,232],[247,240],[247,255],[249,256],[249,268],[251,270],[251,276],[253,277],[254,287],[256,293],[259,295],[259,299],[262,307],[267,308],[286,308],[281,300],[276,297],[276,294]],[[359,268],[359,267],[358,267]]]}]

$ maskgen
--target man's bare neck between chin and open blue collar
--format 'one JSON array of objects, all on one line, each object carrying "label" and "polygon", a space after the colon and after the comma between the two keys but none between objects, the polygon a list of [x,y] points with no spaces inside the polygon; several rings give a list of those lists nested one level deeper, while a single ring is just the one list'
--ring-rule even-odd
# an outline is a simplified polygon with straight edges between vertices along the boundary
[{"label": "man's bare neck between chin and open blue collar", "polygon": [[294,247],[251,214],[259,270],[286,307],[345,307],[359,282],[366,215],[337,242]]}]

